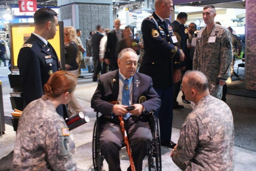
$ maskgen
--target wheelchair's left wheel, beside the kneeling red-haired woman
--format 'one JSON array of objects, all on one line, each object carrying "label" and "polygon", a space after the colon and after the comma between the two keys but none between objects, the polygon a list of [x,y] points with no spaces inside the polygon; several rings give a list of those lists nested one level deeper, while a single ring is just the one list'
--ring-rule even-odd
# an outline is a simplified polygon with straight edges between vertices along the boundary
[{"label": "wheelchair's left wheel, beside the kneeling red-haired woman", "polygon": [[99,149],[99,135],[98,135],[97,121],[93,127],[93,142],[92,142],[92,153],[93,153],[93,167],[95,171],[102,171],[103,166],[103,155],[101,149]]}]

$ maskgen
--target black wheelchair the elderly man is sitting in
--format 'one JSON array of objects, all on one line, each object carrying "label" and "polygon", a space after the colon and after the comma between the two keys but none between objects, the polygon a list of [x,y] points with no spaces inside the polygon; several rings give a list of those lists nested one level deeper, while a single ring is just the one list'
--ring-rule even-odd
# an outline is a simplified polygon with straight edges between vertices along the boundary
[{"label": "black wheelchair the elderly man is sitting in", "polygon": [[[92,154],[93,154],[93,167],[95,171],[102,171],[104,156],[102,149],[99,148],[99,135],[100,135],[100,119],[99,112],[96,112],[96,121],[93,127],[93,142],[92,142]],[[160,127],[159,120],[155,117],[154,111],[149,113],[149,125],[152,133],[152,143],[148,149],[148,165],[149,171],[161,171],[161,143],[160,143]],[[123,145],[123,147],[125,147]]]}]

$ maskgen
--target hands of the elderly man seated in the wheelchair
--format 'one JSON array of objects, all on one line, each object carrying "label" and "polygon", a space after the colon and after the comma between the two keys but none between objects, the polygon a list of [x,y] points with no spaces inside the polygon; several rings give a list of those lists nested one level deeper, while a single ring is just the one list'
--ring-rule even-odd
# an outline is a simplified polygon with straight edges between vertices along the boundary
[{"label": "hands of the elderly man seated in the wheelchair", "polygon": [[135,109],[127,111],[125,109],[127,106],[122,104],[115,104],[112,113],[114,113],[117,116],[122,116],[129,112],[131,115],[139,116],[144,110],[144,106],[142,104],[134,104],[133,106],[135,107]]}]

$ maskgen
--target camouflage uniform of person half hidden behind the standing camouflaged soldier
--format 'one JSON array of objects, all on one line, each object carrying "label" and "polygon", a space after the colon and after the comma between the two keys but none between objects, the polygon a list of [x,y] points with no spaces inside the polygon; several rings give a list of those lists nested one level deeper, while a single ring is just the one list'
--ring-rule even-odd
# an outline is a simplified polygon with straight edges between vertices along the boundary
[{"label": "camouflage uniform of person half hidden behind the standing camouflaged soldier", "polygon": [[239,55],[241,54],[243,47],[240,39],[235,34],[231,34],[231,42],[232,42],[232,51],[233,51],[233,62],[230,66],[230,75],[232,76],[234,74],[234,64],[236,62],[236,56],[238,54]]}]

